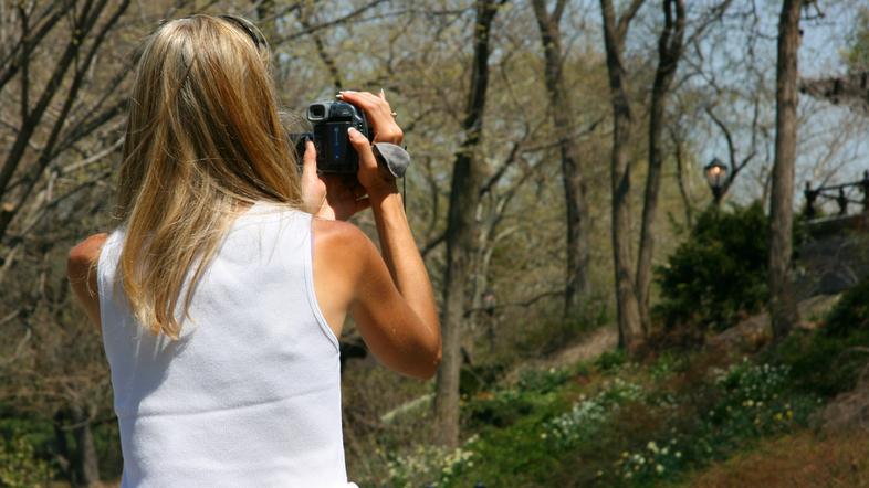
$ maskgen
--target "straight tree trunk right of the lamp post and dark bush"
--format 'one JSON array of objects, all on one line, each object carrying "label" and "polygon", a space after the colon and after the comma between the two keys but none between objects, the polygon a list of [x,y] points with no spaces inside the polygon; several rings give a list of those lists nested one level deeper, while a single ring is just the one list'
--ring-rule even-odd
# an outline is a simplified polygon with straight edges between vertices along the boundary
[{"label": "straight tree trunk right of the lamp post and dark bush", "polygon": [[800,0],[784,0],[778,19],[775,162],[769,202],[769,312],[773,337],[787,336],[798,320],[791,286],[794,165],[797,140],[797,49]]}]

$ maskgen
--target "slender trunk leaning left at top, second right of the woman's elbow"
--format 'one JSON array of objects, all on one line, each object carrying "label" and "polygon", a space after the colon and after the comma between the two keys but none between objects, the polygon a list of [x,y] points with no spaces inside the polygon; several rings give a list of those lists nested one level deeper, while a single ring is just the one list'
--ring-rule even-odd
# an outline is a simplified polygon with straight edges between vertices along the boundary
[{"label": "slender trunk leaning left at top, second right of the woman's elbow", "polygon": [[588,203],[586,188],[579,168],[579,148],[576,145],[576,116],[573,99],[564,81],[564,53],[559,22],[565,0],[558,0],[552,13],[546,10],[545,0],[534,0],[534,14],[537,18],[541,42],[546,59],[546,92],[549,96],[549,110],[562,156],[562,183],[567,220],[567,263],[564,290],[564,316],[578,312],[582,296],[589,293],[588,266]]}]

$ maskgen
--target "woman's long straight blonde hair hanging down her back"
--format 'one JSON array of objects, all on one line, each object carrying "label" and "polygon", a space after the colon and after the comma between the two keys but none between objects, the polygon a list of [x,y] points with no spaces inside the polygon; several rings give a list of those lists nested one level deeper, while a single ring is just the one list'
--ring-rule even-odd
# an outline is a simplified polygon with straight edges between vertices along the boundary
[{"label": "woman's long straight blonde hair hanging down her back", "polygon": [[145,42],[117,216],[126,226],[124,291],[155,335],[178,339],[185,280],[195,266],[184,297],[187,316],[196,283],[245,202],[302,208],[269,49],[254,39],[235,19],[197,14],[161,25]]}]

